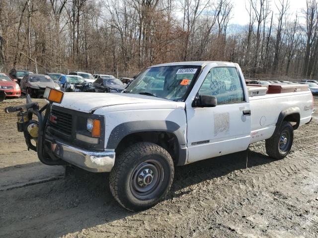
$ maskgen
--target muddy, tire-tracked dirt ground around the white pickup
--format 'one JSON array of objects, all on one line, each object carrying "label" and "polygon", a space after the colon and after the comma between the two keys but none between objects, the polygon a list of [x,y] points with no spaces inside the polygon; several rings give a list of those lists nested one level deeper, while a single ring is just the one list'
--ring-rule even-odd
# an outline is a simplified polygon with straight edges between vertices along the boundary
[{"label": "muddy, tire-tracked dirt ground around the white pickup", "polygon": [[139,213],[116,203],[107,174],[65,177],[27,151],[16,116],[3,113],[22,103],[0,103],[0,237],[318,237],[318,97],[285,159],[259,142],[177,167],[167,198]]}]

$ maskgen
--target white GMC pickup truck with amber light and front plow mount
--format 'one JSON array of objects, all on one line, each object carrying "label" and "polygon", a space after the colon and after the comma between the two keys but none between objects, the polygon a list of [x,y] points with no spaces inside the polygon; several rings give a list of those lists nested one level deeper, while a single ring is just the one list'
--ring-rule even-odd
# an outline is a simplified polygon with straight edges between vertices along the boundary
[{"label": "white GMC pickup truck with amber light and front plow mount", "polygon": [[253,86],[246,86],[237,63],[173,62],[145,69],[121,94],[46,88],[44,108],[27,96],[26,105],[5,112],[19,112],[18,129],[41,162],[110,172],[112,195],[139,211],[164,198],[175,166],[261,140],[270,157],[283,159],[294,130],[312,119],[311,92],[296,89],[249,97]]}]

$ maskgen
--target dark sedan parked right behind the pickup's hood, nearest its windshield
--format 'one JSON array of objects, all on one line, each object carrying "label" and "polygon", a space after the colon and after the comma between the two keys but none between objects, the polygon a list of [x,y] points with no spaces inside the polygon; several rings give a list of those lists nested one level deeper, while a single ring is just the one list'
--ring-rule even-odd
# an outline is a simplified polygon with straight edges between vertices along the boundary
[{"label": "dark sedan parked right behind the pickup's hood, nearest its windshield", "polygon": [[93,82],[96,92],[99,93],[121,93],[126,86],[117,78],[97,78]]}]

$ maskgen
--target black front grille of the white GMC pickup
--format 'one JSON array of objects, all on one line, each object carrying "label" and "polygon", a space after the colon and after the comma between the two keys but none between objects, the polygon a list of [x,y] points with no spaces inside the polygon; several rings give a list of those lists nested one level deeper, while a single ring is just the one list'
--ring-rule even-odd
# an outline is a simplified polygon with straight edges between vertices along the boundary
[{"label": "black front grille of the white GMC pickup", "polygon": [[50,123],[53,128],[68,135],[72,134],[72,114],[57,111],[52,108],[51,115],[56,117],[56,123]]}]

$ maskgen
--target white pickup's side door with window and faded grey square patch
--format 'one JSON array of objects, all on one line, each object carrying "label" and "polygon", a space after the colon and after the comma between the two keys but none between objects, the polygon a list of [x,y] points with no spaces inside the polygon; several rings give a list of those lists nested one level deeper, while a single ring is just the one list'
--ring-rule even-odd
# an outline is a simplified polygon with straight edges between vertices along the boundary
[{"label": "white pickup's side door with window and faded grey square patch", "polygon": [[250,141],[248,96],[236,67],[212,67],[197,91],[215,96],[213,108],[192,107],[187,102],[188,162],[246,150]]}]

